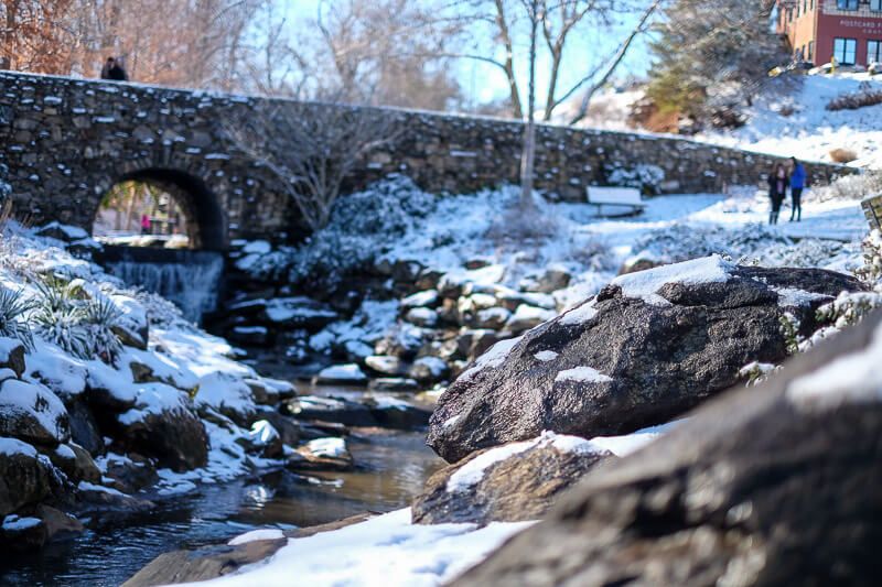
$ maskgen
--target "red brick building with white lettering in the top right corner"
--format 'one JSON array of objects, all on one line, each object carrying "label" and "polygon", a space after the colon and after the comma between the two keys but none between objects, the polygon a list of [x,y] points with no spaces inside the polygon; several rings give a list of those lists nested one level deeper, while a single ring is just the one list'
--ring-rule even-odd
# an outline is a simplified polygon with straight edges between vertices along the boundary
[{"label": "red brick building with white lettering in the top right corner", "polygon": [[882,0],[778,0],[777,31],[815,65],[882,63]]}]

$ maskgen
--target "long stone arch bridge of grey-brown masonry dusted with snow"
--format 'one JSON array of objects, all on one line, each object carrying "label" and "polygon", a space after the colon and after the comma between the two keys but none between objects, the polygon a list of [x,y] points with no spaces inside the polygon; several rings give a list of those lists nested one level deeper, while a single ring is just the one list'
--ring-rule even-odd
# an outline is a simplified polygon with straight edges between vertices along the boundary
[{"label": "long stone arch bridge of grey-brown masonry dusted with snow", "polygon": [[[224,250],[234,238],[295,236],[298,214],[278,181],[238,154],[225,121],[248,116],[261,97],[0,72],[0,163],[9,169],[14,213],[34,222],[92,229],[107,191],[125,180],[160,184],[195,225],[196,247]],[[330,105],[278,101],[291,116]],[[430,192],[466,193],[517,182],[523,126],[517,121],[407,111],[402,131],[352,178],[355,189],[386,174]],[[695,141],[540,126],[536,186],[578,200],[611,163],[664,170],[673,193],[755,184],[776,157]],[[815,182],[846,167],[811,164]]]}]

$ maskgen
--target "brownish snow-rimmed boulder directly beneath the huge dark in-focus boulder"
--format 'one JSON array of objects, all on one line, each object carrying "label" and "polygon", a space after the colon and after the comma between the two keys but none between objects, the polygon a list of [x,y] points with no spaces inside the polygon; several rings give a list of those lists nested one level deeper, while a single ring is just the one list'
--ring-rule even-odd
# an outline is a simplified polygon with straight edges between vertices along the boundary
[{"label": "brownish snow-rimmed boulder directly beneath the huge dark in-focus boulder", "polygon": [[413,500],[413,522],[538,520],[561,492],[611,456],[591,441],[553,433],[474,453],[429,478]]}]

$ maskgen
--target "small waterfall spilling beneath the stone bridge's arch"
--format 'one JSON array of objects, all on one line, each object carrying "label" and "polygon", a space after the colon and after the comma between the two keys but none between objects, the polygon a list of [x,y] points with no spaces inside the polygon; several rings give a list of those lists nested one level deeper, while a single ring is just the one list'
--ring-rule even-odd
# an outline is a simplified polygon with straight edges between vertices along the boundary
[{"label": "small waterfall spilling beneath the stone bridge's arch", "polygon": [[[121,248],[120,248],[121,249]],[[103,263],[111,275],[173,302],[184,317],[198,324],[217,307],[224,257],[209,251],[135,248]]]}]

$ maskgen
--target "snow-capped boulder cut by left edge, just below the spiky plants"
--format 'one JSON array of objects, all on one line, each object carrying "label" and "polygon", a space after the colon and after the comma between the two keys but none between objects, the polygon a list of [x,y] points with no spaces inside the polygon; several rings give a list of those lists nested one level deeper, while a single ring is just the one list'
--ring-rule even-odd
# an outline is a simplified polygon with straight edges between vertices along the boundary
[{"label": "snow-capped boulder cut by left edge, just below the spiky plants", "polygon": [[0,383],[0,435],[54,447],[71,438],[67,410],[45,387],[7,379]]}]

